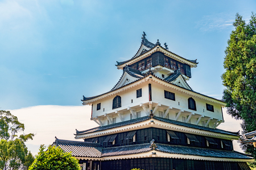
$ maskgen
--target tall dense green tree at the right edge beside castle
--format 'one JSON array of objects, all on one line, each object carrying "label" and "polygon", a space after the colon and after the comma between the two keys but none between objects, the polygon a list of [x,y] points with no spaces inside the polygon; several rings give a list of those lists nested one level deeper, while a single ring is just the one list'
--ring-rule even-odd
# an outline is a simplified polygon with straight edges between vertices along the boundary
[{"label": "tall dense green tree at the right edge beside castle", "polygon": [[[225,50],[222,74],[223,99],[228,114],[241,119],[243,133],[256,130],[256,15],[252,13],[249,23],[236,14],[234,31],[230,34]],[[256,158],[251,145],[241,145],[243,150]]]}]

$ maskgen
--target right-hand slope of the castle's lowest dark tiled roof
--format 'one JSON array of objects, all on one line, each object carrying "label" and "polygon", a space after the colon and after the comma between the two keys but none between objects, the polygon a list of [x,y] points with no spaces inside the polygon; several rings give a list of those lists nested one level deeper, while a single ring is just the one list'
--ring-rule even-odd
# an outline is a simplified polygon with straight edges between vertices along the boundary
[{"label": "right-hand slope of the castle's lowest dark tiled roof", "polygon": [[181,154],[181,155],[194,155],[214,158],[233,158],[233,159],[251,159],[248,156],[239,152],[214,150],[209,148],[177,146],[177,145],[165,145],[157,143],[157,151],[166,152],[169,154]]}]

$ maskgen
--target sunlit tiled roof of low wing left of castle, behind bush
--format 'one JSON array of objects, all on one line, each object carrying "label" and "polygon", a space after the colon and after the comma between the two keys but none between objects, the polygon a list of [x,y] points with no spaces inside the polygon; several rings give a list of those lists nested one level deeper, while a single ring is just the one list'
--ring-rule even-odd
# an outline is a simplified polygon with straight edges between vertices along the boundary
[{"label": "sunlit tiled roof of low wing left of castle, behind bush", "polygon": [[72,152],[72,155],[77,157],[100,158],[102,154],[100,143],[67,141],[57,138],[53,143],[65,152]]}]

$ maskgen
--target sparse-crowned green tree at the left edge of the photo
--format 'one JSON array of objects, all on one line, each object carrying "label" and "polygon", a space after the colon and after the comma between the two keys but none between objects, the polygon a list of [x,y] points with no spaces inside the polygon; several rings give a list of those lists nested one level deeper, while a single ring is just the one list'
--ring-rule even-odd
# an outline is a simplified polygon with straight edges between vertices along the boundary
[{"label": "sparse-crowned green tree at the left edge of the photo", "polygon": [[28,169],[34,162],[34,156],[28,152],[24,142],[34,134],[21,134],[24,124],[9,111],[0,111],[0,169]]}]

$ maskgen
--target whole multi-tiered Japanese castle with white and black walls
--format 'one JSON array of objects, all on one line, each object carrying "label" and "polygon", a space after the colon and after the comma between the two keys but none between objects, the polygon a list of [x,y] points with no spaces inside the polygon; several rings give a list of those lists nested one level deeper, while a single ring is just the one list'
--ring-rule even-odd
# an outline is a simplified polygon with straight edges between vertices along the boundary
[{"label": "whole multi-tiered Japanese castle with white and black walls", "polygon": [[187,83],[197,64],[143,32],[138,52],[115,65],[123,74],[112,90],[82,99],[98,127],[76,130],[84,142],[53,145],[71,151],[83,170],[249,170],[254,159],[233,150],[239,133],[217,129],[224,101]]}]

